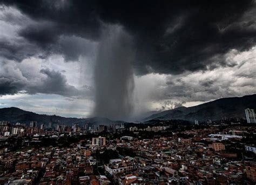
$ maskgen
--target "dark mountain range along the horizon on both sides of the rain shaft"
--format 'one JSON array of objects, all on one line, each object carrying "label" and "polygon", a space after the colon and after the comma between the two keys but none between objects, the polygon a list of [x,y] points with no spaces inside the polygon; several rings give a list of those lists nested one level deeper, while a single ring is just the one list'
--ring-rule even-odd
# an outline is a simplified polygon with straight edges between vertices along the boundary
[{"label": "dark mountain range along the horizon on both sides of the rain shaft", "polygon": [[[256,109],[256,94],[245,95],[244,97],[221,98],[192,107],[177,107],[167,111],[154,113],[142,119],[142,122],[149,120],[187,120],[206,121],[220,120],[221,118],[245,117],[245,108]],[[42,123],[62,123],[65,125],[76,124],[105,124],[111,125],[124,121],[113,121],[102,117],[93,118],[65,118],[58,115],[37,114],[24,111],[16,107],[0,108],[0,121],[10,121],[12,123],[21,122],[29,124],[30,121]]]}]

